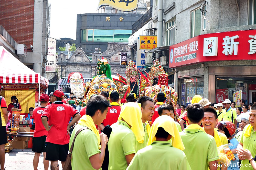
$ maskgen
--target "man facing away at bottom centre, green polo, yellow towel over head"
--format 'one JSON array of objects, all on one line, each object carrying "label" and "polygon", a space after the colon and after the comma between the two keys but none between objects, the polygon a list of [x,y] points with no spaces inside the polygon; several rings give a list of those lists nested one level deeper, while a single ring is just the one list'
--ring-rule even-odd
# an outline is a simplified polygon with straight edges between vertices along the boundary
[{"label": "man facing away at bottom centre, green polo, yellow towel over head", "polygon": [[[156,125],[156,126],[155,126]],[[168,132],[167,132],[168,131]],[[127,169],[164,169],[164,170],[190,170],[187,157],[181,149],[183,144],[176,124],[172,118],[167,115],[156,118],[150,131],[155,140],[147,147],[139,150],[132,159]],[[175,134],[175,135],[174,135]],[[168,140],[179,140],[178,147],[172,146]],[[174,142],[175,143],[175,142]],[[148,143],[149,144],[149,143]],[[179,149],[178,149],[179,148]]]}]

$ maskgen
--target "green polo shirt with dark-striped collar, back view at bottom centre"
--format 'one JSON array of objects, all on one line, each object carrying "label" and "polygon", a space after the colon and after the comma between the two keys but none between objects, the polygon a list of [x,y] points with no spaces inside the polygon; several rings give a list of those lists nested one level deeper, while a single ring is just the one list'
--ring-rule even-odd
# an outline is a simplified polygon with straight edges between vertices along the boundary
[{"label": "green polo shirt with dark-striped collar, back view at bottom centre", "polygon": [[191,168],[182,150],[174,148],[168,141],[154,141],[135,154],[127,169],[190,170]]}]

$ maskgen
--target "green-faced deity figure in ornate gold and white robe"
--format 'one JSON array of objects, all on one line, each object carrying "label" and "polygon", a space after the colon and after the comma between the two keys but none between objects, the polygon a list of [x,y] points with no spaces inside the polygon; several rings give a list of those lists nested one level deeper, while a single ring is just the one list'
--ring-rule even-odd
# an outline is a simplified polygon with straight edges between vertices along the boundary
[{"label": "green-faced deity figure in ornate gold and white robe", "polygon": [[108,64],[108,61],[102,57],[97,63],[97,75],[94,76],[90,82],[86,82],[85,84],[85,101],[87,102],[89,96],[92,94],[98,95],[101,91],[110,92],[115,89],[116,85],[111,77],[110,65]]}]

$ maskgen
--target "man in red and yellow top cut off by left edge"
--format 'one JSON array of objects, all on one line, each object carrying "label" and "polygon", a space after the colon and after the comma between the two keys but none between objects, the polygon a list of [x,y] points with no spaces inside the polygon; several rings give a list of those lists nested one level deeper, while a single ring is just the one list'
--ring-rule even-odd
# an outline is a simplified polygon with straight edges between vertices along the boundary
[{"label": "man in red and yellow top cut off by left edge", "polygon": [[[3,91],[3,86],[0,84],[0,94]],[[8,112],[7,112],[7,105],[4,97],[0,96],[0,116],[1,116],[1,125],[0,125],[0,169],[4,168],[4,162],[5,162],[5,149],[4,145],[8,142],[6,138],[6,124],[8,121]]]}]

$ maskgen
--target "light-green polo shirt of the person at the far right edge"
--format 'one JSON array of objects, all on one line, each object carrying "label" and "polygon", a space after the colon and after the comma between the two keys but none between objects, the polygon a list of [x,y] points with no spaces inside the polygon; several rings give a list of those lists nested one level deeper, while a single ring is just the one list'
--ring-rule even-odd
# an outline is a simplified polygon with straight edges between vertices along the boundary
[{"label": "light-green polo shirt of the person at the far right edge", "polygon": [[[244,136],[245,129],[249,125],[246,125],[244,127],[241,138],[240,138],[240,142],[243,144],[243,149],[244,150],[248,149],[251,152],[252,156],[254,156],[254,155],[256,155],[256,131],[254,131],[252,129],[249,137]],[[242,160],[241,164],[243,164],[243,166],[241,166],[240,170],[253,170],[253,168],[251,166],[249,167],[250,163],[248,162],[247,159]]]}]

